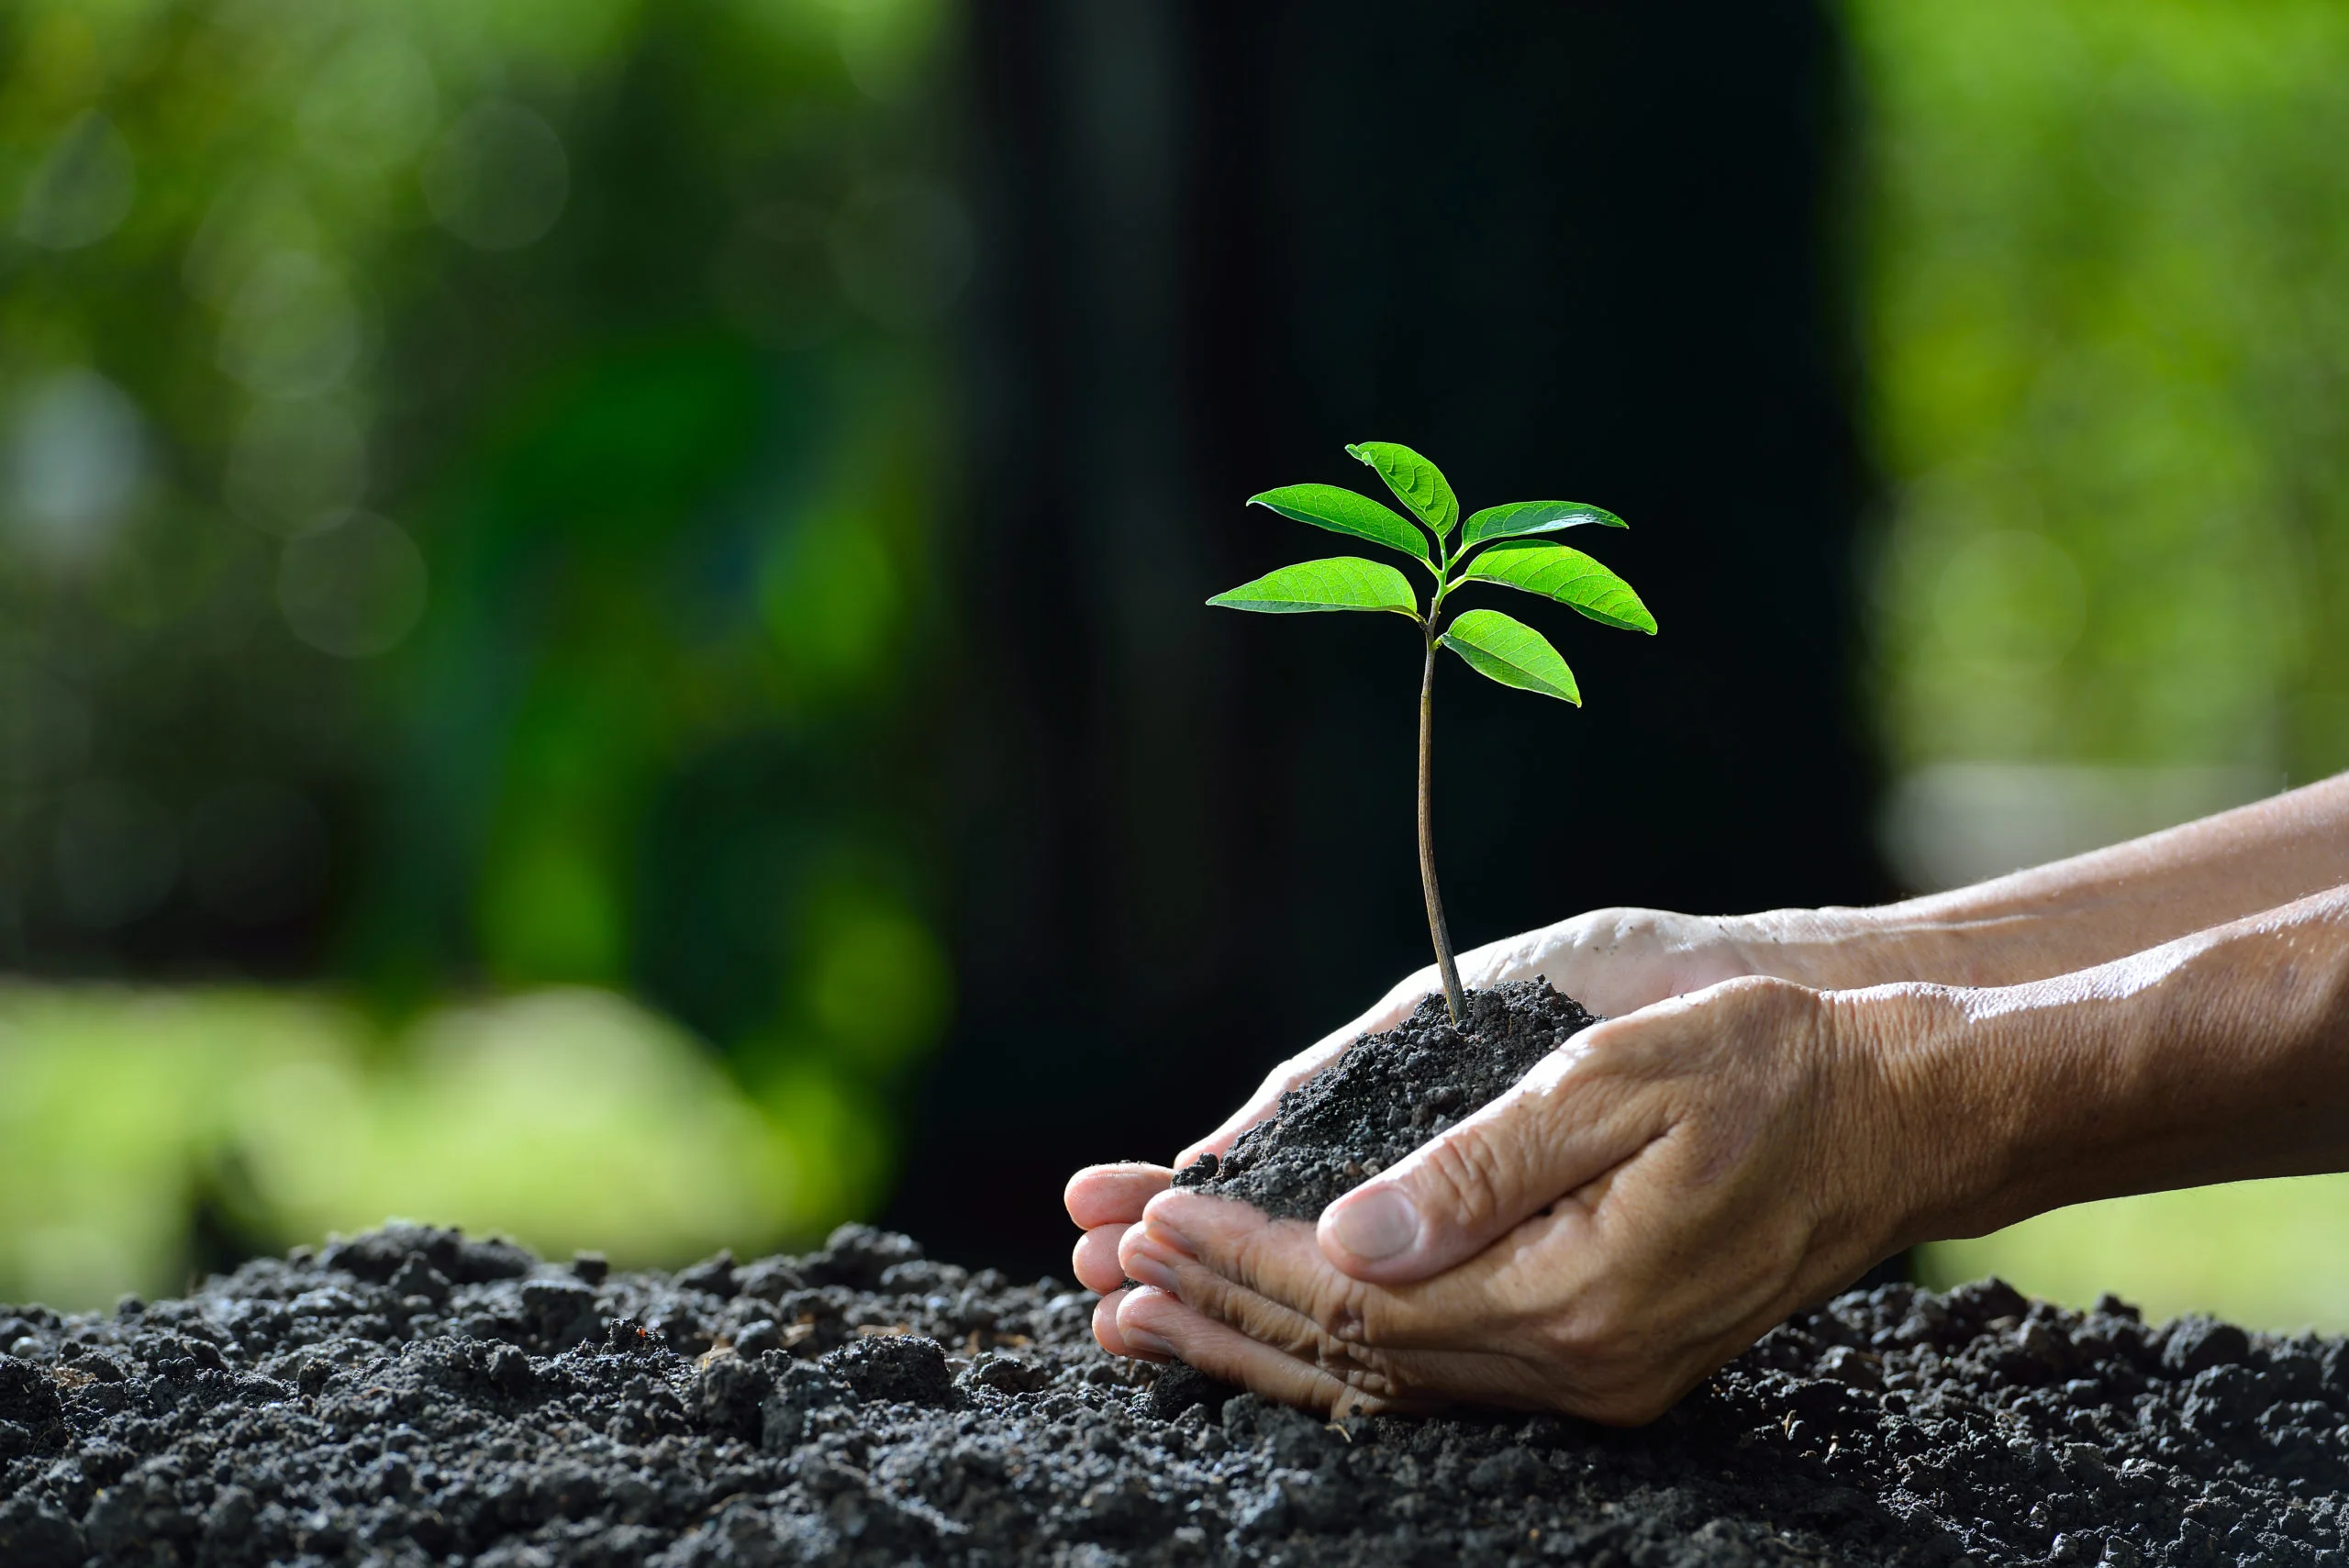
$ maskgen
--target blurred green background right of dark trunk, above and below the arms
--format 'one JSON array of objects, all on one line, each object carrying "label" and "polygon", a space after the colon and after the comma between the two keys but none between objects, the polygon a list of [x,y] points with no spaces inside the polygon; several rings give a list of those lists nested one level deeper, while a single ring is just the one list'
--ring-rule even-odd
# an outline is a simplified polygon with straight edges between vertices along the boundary
[{"label": "blurred green background right of dark trunk, above and below the arms", "polygon": [[[2349,9],[1846,16],[1875,676],[1945,815],[1907,826],[1978,876],[2349,768]],[[2349,1178],[2316,1178],[2088,1204],[1924,1272],[2349,1329],[2344,1256]]]}]

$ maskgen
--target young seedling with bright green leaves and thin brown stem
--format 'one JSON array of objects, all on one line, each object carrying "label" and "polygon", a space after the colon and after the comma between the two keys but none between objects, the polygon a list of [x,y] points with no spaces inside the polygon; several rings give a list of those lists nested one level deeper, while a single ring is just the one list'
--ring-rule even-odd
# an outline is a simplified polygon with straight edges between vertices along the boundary
[{"label": "young seedling with bright green leaves and thin brown stem", "polygon": [[[1377,469],[1395,500],[1409,509],[1409,519],[1369,495],[1334,484],[1292,484],[1250,495],[1247,505],[1271,507],[1299,523],[1351,533],[1358,540],[1412,556],[1435,577],[1428,608],[1421,613],[1409,577],[1393,566],[1360,556],[1283,566],[1278,573],[1243,582],[1207,603],[1264,615],[1388,610],[1419,624],[1428,648],[1426,671],[1419,676],[1419,887],[1428,899],[1428,937],[1435,941],[1435,967],[1445,976],[1445,1007],[1452,1012],[1452,1026],[1466,1028],[1468,993],[1461,991],[1459,965],[1452,960],[1452,930],[1445,922],[1445,899],[1435,887],[1435,650],[1449,648],[1468,660],[1468,669],[1501,685],[1557,697],[1574,707],[1583,704],[1583,695],[1574,685],[1574,671],[1557,657],[1548,638],[1522,620],[1499,610],[1461,610],[1445,624],[1445,601],[1470,582],[1499,582],[1571,606],[1602,627],[1654,636],[1656,617],[1647,613],[1628,582],[1583,552],[1534,538],[1581,523],[1623,528],[1623,519],[1614,512],[1571,500],[1517,500],[1506,507],[1485,507],[1461,526],[1461,507],[1452,486],[1433,462],[1409,446],[1362,441],[1348,446],[1346,453]],[[1433,552],[1428,549],[1431,538]]]}]

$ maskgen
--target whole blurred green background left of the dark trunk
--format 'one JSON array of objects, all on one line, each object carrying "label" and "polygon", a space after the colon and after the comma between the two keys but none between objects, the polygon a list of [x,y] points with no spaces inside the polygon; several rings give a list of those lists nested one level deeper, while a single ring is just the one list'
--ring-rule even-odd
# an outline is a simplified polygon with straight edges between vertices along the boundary
[{"label": "whole blurred green background left of the dark trunk", "polygon": [[944,23],[0,7],[0,1298],[879,1199],[951,1009]]}]

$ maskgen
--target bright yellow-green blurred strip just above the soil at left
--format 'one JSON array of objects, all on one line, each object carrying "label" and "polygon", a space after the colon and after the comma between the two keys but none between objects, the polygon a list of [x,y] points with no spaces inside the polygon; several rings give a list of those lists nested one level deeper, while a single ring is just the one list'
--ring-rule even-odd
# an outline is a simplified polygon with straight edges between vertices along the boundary
[{"label": "bright yellow-green blurred strip just above the soil at left", "polygon": [[12,988],[0,1038],[0,1235],[35,1300],[176,1289],[183,1265],[392,1214],[554,1256],[679,1258],[808,1235],[883,1174],[824,1082],[775,1124],[695,1040],[606,991],[385,1038],[282,991]]}]

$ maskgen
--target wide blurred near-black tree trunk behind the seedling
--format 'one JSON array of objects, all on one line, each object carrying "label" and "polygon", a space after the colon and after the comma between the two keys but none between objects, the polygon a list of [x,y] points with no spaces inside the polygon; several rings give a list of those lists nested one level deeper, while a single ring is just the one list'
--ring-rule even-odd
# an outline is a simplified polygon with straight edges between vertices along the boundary
[{"label": "wide blurred near-black tree trunk behind the seedling", "polygon": [[1846,63],[1816,5],[972,12],[961,1007],[888,1223],[1066,1258],[1076,1164],[1165,1160],[1428,960],[1419,648],[1200,606],[1377,488],[1621,512],[1661,636],[1569,613],[1581,711],[1442,667],[1463,948],[1604,904],[1886,892],[1856,667]]}]

